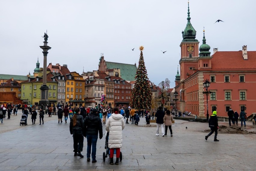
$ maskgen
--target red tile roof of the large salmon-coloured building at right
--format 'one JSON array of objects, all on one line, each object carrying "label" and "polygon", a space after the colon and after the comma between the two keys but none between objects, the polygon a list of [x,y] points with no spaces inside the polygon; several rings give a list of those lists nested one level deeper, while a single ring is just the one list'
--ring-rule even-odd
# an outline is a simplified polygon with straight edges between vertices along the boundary
[{"label": "red tile roof of the large salmon-coloured building at right", "polygon": [[218,51],[212,55],[212,70],[256,70],[256,51],[247,52],[244,59],[242,51]]}]

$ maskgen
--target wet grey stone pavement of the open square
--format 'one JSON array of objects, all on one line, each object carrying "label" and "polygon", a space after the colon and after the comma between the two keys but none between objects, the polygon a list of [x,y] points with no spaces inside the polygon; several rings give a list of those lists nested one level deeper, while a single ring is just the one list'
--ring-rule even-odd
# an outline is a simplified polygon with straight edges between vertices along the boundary
[{"label": "wet grey stone pavement of the open square", "polygon": [[[213,135],[204,139],[207,123],[175,120],[173,137],[170,132],[162,137],[155,135],[156,127],[130,122],[123,130],[123,160],[117,166],[109,158],[103,162],[104,138],[97,142],[97,163],[74,157],[69,120],[58,124],[56,116],[45,118],[44,125],[39,119],[31,125],[29,116],[27,126],[18,119],[12,127],[17,129],[0,133],[0,170],[255,170],[255,134],[218,134],[220,141],[214,142]],[[141,118],[139,125],[145,123]],[[86,147],[84,139],[84,156]]]}]

